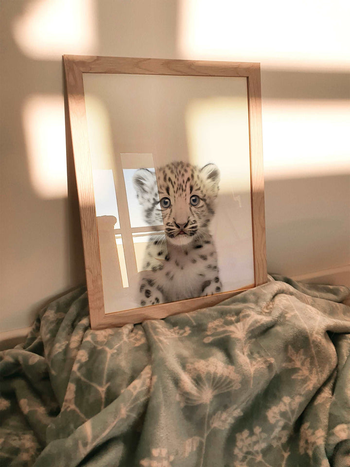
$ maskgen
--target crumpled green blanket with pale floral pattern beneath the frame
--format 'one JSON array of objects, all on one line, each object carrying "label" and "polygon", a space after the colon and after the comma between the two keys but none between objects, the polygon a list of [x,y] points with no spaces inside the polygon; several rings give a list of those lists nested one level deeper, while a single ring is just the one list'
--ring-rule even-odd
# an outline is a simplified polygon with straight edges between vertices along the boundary
[{"label": "crumpled green blanket with pale floral pattern beneath the frame", "polygon": [[350,466],[348,292],[274,276],[91,331],[75,290],[2,353],[0,465]]}]

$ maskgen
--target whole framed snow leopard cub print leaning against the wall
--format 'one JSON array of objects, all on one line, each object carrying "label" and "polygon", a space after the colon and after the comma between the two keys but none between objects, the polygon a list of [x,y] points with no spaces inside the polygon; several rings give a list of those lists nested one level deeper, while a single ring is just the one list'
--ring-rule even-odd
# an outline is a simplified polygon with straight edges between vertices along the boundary
[{"label": "whole framed snow leopard cub print leaning against the wall", "polygon": [[91,327],[265,283],[260,65],[63,58]]}]

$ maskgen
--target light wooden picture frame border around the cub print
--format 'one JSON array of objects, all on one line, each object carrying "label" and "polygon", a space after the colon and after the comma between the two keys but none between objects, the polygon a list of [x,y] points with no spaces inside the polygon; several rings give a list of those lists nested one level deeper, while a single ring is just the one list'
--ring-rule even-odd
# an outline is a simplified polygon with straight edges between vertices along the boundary
[{"label": "light wooden picture frame border around the cub print", "polygon": [[[216,305],[243,290],[267,282],[264,183],[262,169],[260,64],[76,55],[64,55],[63,61],[92,329],[122,326],[125,323],[140,323],[147,319],[164,318],[168,315]],[[223,291],[209,296],[201,296],[158,305],[133,307],[131,309],[124,309],[112,313],[105,312],[104,284],[101,266],[102,253],[100,250],[101,245],[99,242],[96,218],[92,164],[89,151],[87,109],[84,92],[83,76],[85,73],[114,74],[119,76],[226,77],[243,78],[245,80],[248,115],[247,131],[249,139],[248,163],[250,167],[252,255],[254,261],[254,280],[251,283],[235,290]],[[121,155],[121,157],[122,156],[123,155]],[[116,163],[118,165],[121,162]],[[121,170],[123,170],[122,167]],[[125,204],[126,200],[125,190],[119,193],[119,197],[124,197],[120,202],[119,209],[121,209],[122,204]],[[117,199],[119,200],[118,196]],[[112,219],[113,222],[114,220]],[[102,219],[100,224],[105,222],[107,226],[108,221],[110,223],[111,218],[109,218],[109,220],[108,218]],[[103,229],[101,225],[100,228]],[[132,255],[130,249],[132,248],[131,242],[133,232],[130,222],[124,222],[123,229],[123,251],[126,257],[128,254]],[[147,229],[143,228],[143,232],[145,230]],[[118,232],[117,234],[119,234]],[[126,235],[125,232],[128,235]],[[140,232],[142,232],[142,229]],[[131,261],[134,260],[131,259]]]}]

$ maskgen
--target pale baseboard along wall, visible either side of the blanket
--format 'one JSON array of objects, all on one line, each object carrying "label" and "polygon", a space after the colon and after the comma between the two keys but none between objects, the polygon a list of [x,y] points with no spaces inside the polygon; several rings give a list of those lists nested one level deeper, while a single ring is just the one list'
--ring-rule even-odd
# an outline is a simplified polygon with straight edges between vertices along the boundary
[{"label": "pale baseboard along wall, visible either side of the blanket", "polygon": [[[308,272],[307,274],[292,275],[295,281],[308,284],[327,284],[331,286],[350,287],[350,264],[340,268],[325,269],[322,271]],[[15,345],[24,342],[31,327],[13,329],[0,332],[0,350],[11,349]]]}]

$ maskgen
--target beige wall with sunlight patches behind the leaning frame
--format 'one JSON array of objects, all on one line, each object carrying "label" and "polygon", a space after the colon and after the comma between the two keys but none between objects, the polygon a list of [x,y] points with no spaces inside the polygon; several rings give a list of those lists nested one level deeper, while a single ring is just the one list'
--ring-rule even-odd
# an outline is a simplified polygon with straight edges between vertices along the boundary
[{"label": "beige wall with sunlight patches behind the leaning frame", "polygon": [[261,61],[268,269],[349,284],[345,2],[231,3],[1,0],[1,331],[84,281],[62,54]]}]

